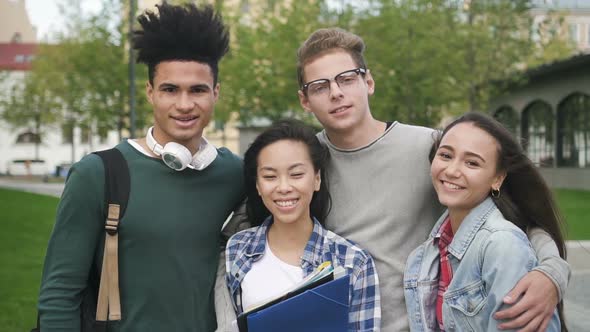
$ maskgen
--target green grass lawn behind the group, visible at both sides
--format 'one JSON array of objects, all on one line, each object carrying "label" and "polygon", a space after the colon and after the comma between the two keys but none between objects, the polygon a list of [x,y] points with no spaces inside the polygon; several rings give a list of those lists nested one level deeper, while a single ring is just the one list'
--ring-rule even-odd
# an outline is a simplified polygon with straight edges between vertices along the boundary
[{"label": "green grass lawn behind the group, visible at both sides", "polygon": [[[556,190],[569,239],[590,240],[590,191]],[[58,199],[0,188],[0,331],[28,331]]]}]

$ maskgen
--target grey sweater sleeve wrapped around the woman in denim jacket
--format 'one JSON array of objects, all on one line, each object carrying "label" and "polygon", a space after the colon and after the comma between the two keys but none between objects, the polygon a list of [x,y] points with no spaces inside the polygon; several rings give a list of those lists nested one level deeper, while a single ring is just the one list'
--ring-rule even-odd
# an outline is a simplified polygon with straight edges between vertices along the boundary
[{"label": "grey sweater sleeve wrapped around the woman in denim jacket", "polygon": [[539,265],[533,270],[542,272],[553,281],[561,301],[571,276],[569,264],[559,256],[557,245],[547,232],[535,227],[527,235],[539,260]]}]

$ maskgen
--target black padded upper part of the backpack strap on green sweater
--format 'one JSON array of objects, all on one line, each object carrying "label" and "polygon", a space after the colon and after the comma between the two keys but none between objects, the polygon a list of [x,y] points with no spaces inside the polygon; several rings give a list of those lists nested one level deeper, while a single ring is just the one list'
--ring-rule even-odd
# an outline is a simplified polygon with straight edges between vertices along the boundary
[{"label": "black padded upper part of the backpack strap on green sweater", "polygon": [[117,204],[121,207],[119,219],[122,219],[127,209],[131,180],[127,161],[119,149],[112,148],[103,151],[95,151],[104,164],[104,211],[107,215],[109,204]]}]

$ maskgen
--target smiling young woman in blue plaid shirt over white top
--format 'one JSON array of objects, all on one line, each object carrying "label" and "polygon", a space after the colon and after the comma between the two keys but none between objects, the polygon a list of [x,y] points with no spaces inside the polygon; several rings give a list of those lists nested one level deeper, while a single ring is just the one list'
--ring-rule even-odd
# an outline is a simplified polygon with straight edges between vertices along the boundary
[{"label": "smiling young woman in blue plaid shirt over white top", "polygon": [[237,314],[281,294],[330,261],[350,275],[348,331],[380,330],[373,258],[322,226],[330,207],[323,176],[328,158],[315,131],[292,120],[264,131],[246,151],[248,219],[257,227],[233,235],[225,256]]}]

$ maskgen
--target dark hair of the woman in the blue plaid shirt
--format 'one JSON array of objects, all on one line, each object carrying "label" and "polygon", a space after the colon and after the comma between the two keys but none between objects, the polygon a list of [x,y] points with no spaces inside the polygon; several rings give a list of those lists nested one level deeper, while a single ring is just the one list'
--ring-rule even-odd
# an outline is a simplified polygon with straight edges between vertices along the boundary
[{"label": "dark hair of the woman in the blue plaid shirt", "polygon": [[314,171],[320,172],[320,190],[313,193],[309,206],[310,214],[323,225],[330,212],[331,198],[328,192],[328,178],[325,176],[325,168],[330,158],[328,149],[323,146],[315,135],[315,130],[297,120],[281,120],[260,134],[250,145],[244,154],[244,181],[246,186],[248,219],[253,226],[258,226],[270,216],[270,212],[264,206],[262,199],[256,190],[256,177],[258,169],[258,156],[260,151],[268,145],[290,140],[301,142],[307,146],[309,157]]}]

